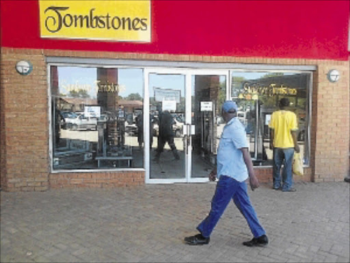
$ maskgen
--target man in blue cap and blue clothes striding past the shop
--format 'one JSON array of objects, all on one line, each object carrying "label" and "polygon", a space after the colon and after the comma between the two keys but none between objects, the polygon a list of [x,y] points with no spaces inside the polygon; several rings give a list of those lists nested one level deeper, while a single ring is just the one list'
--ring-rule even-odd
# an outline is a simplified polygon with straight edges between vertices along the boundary
[{"label": "man in blue cap and blue clothes striding past the shop", "polygon": [[209,174],[211,181],[215,181],[216,177],[219,181],[211,201],[211,211],[197,227],[200,234],[185,238],[188,245],[208,244],[215,225],[231,199],[247,220],[254,236],[252,240],[243,242],[243,245],[256,247],[269,243],[265,230],[260,225],[247,195],[245,180],[248,176],[252,190],[258,188],[259,182],[254,175],[245,129],[241,121],[236,118],[237,110],[237,104],[234,101],[225,101],[222,105],[221,114],[226,125],[221,134],[217,151],[217,168]]}]

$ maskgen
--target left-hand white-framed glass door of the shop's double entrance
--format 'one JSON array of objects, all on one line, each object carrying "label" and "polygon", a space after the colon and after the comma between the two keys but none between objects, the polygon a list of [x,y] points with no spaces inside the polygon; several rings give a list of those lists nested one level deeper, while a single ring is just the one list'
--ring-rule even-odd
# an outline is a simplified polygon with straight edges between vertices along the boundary
[{"label": "left-hand white-framed glass door of the shop's double entrance", "polygon": [[187,181],[185,136],[186,75],[180,71],[148,73],[149,182]]}]

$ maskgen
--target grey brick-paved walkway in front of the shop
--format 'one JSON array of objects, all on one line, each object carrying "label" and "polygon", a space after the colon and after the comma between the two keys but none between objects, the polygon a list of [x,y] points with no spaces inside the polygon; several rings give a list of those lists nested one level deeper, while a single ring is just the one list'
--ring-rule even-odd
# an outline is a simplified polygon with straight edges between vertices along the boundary
[{"label": "grey brick-paved walkway in front of the shop", "polygon": [[133,188],[1,192],[1,262],[349,262],[349,186],[264,185],[250,197],[267,247],[233,203],[209,245],[191,247],[215,183]]}]

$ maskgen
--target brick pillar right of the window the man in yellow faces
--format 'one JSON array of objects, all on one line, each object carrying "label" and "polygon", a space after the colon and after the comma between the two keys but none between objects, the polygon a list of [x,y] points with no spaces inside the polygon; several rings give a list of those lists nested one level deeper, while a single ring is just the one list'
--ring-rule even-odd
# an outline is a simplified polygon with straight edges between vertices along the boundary
[{"label": "brick pillar right of the window the man in yellow faces", "polygon": [[[338,82],[327,80],[329,70],[340,72]],[[319,65],[314,181],[343,181],[349,174],[349,62]]]}]

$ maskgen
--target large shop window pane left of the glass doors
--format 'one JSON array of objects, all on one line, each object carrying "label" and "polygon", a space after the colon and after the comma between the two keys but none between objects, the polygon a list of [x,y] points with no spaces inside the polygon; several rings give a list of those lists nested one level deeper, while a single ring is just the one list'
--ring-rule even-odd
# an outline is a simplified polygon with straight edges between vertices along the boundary
[{"label": "large shop window pane left of the glass doors", "polygon": [[53,170],[144,167],[143,78],[141,68],[51,66]]}]

